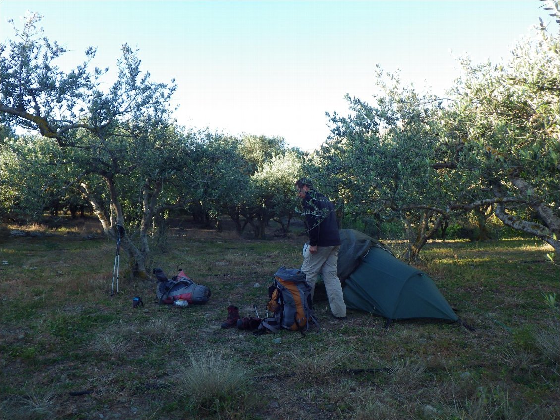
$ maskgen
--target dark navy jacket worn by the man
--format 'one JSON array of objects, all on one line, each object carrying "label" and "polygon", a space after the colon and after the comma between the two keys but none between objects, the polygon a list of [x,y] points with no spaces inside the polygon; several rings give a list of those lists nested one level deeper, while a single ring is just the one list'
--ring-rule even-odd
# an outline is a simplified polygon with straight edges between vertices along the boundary
[{"label": "dark navy jacket worn by the man", "polygon": [[303,208],[310,246],[340,245],[337,218],[333,204],[323,194],[309,190],[303,200]]}]

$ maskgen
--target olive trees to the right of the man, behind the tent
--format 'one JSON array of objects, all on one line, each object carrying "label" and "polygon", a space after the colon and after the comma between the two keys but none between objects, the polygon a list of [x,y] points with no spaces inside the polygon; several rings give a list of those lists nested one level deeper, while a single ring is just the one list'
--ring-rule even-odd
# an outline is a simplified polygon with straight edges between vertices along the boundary
[{"label": "olive trees to the right of the man, behind the tent", "polygon": [[520,41],[509,63],[464,59],[451,100],[379,69],[376,105],[347,95],[351,113],[327,114],[331,135],[306,171],[343,212],[401,220],[406,259],[449,221],[488,209],[558,254],[558,63],[556,25]]}]

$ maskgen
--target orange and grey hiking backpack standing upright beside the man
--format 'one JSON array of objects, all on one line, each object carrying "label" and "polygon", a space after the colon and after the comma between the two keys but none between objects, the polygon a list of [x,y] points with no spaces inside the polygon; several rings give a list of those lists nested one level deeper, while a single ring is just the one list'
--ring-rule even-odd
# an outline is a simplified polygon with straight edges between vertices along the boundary
[{"label": "orange and grey hiking backpack standing upright beside the man", "polygon": [[319,326],[313,314],[311,286],[301,270],[280,267],[274,273],[274,283],[268,288],[268,296],[267,310],[273,316],[263,319],[260,332],[277,332],[285,328],[303,334],[310,323]]}]

